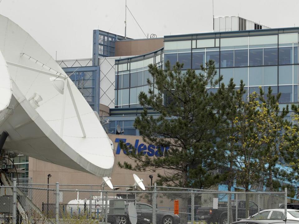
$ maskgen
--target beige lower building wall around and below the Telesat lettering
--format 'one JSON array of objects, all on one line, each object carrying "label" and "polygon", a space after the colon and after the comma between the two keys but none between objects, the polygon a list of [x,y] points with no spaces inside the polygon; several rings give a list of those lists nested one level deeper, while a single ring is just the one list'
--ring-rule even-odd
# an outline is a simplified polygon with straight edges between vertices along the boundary
[{"label": "beige lower building wall around and below the Telesat lettering", "polygon": [[[139,144],[144,143],[140,136],[130,136],[130,135],[113,135],[109,134],[109,138],[114,143],[114,148],[116,149],[117,144],[115,142],[116,138],[126,138],[126,142],[131,142],[134,145],[135,140],[139,140]],[[100,147],[100,146],[99,146]],[[131,170],[125,170],[119,168],[117,162],[124,161],[132,162],[121,150],[120,154],[115,154],[115,162],[112,171],[112,184],[114,185],[133,185],[133,173],[137,174],[140,178],[144,180],[145,185],[150,185],[149,175],[153,175],[154,180],[157,179],[157,173],[152,172],[133,172]],[[161,171],[160,171],[161,172]],[[163,172],[163,171],[162,171]],[[64,166],[55,165],[53,163],[37,160],[35,158],[29,157],[29,177],[32,177],[33,183],[36,184],[46,184],[47,175],[51,174],[50,183],[54,184],[59,182],[60,184],[102,184],[102,178],[95,175],[83,173],[81,171],[66,168]]]}]

